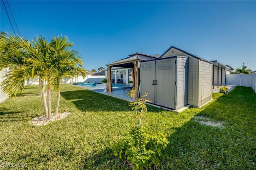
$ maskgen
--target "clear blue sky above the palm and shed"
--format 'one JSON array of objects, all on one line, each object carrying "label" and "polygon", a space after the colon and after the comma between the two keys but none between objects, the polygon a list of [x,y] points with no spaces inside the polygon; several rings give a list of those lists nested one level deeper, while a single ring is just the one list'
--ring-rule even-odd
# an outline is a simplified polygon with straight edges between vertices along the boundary
[{"label": "clear blue sky above the palm and shed", "polygon": [[[66,35],[87,70],[175,46],[256,70],[256,1],[8,1],[20,35]],[[6,8],[8,9],[5,1]],[[9,13],[9,15],[11,15]],[[0,30],[13,33],[1,2]],[[16,30],[16,29],[14,29]]]}]

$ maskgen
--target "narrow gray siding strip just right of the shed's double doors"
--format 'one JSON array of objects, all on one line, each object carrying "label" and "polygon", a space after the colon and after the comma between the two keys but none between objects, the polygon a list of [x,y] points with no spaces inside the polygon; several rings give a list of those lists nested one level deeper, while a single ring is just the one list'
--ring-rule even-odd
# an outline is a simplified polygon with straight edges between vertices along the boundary
[{"label": "narrow gray siding strip just right of the shed's double doors", "polygon": [[177,58],[177,98],[176,109],[188,104],[188,58]]}]

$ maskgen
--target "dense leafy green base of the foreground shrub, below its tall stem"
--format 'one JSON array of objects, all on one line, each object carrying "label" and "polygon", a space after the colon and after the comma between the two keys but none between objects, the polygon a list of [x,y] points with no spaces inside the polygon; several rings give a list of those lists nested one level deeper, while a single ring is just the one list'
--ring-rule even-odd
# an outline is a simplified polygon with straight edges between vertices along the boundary
[{"label": "dense leafy green base of the foreground shrub, below its tall stem", "polygon": [[164,135],[148,135],[146,128],[133,127],[128,134],[112,147],[114,156],[126,159],[134,170],[148,169],[160,164],[161,150],[169,141]]}]

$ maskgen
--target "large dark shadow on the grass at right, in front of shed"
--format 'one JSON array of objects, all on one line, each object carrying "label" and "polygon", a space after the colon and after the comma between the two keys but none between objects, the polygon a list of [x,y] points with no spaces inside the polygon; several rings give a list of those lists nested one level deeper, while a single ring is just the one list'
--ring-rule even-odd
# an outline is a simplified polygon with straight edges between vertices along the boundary
[{"label": "large dark shadow on the grass at right, in front of shed", "polygon": [[223,121],[226,127],[206,126],[191,119],[173,128],[160,168],[251,169],[256,164],[255,100],[250,88],[237,87],[196,114]]}]

